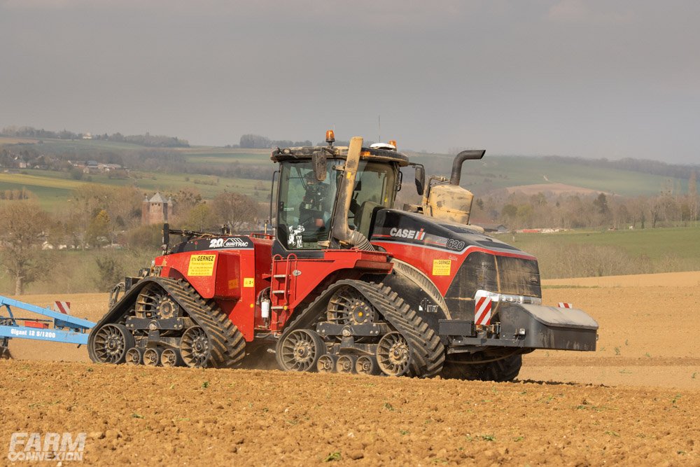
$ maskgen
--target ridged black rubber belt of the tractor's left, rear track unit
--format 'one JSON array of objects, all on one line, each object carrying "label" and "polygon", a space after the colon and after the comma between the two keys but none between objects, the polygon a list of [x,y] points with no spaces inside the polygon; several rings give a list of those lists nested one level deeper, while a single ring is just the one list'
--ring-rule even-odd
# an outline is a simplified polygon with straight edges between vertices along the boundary
[{"label": "ridged black rubber belt of the tractor's left, rear track unit", "polygon": [[[183,307],[186,314],[207,333],[211,355],[204,366],[208,368],[232,368],[241,362],[246,355],[246,341],[237,326],[219,309],[214,300],[204,300],[186,281],[167,277],[147,277],[137,284],[141,286],[139,291],[149,282],[160,285]],[[130,295],[132,294],[125,295],[120,301],[125,300]],[[120,305],[119,302],[115,307],[118,305]],[[119,316],[119,319],[122,318],[123,316]],[[110,322],[118,321],[110,320]]]}]

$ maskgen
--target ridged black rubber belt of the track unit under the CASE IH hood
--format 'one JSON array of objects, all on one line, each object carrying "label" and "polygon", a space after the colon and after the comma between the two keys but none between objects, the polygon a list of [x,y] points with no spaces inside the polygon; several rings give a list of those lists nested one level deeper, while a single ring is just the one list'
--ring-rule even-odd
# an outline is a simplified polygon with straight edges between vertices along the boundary
[{"label": "ridged black rubber belt of the track unit under the CASE IH hood", "polygon": [[[321,313],[325,312],[325,302],[338,288],[351,286],[362,293],[374,308],[384,316],[393,328],[405,337],[411,351],[411,365],[409,376],[433,377],[440,374],[444,363],[444,346],[440,342],[435,330],[428,326],[418,314],[404,302],[402,298],[391,290],[391,287],[363,282],[352,279],[337,281],[328,287],[321,295],[292,321],[285,334],[295,329],[309,328],[314,323],[321,321]],[[323,316],[325,318],[325,315]],[[279,342],[283,340],[283,335]]]}]

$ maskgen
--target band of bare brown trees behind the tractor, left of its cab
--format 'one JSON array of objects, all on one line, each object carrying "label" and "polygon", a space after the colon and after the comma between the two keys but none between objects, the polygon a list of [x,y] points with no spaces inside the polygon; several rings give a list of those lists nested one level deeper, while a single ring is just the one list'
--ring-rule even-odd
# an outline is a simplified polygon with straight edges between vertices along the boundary
[{"label": "band of bare brown trees behind the tractor, left of its cab", "polygon": [[[152,193],[151,193],[152,195]],[[220,193],[203,200],[196,188],[163,193],[172,198],[169,222],[177,228],[221,232],[256,230],[266,209],[239,193]],[[143,252],[153,258],[161,245],[162,224],[142,225],[144,192],[134,187],[85,184],[71,193],[64,205],[45,211],[29,194],[29,200],[0,203],[0,264],[20,295],[28,284],[60,274],[54,265],[66,251],[79,251],[99,263],[94,288],[101,291],[121,280],[127,255],[115,249]],[[95,252],[104,251],[104,254]],[[63,272],[67,274],[66,272]]]}]

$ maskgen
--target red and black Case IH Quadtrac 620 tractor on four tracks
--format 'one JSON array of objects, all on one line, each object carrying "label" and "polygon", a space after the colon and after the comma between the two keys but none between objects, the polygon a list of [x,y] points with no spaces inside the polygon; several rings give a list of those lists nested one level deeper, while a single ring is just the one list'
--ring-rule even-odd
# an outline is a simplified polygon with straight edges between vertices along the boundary
[{"label": "red and black Case IH Quadtrac 620 tractor on four tracks", "polygon": [[[165,225],[162,256],[113,291],[90,358],[230,368],[274,352],[286,371],[506,381],[534,349],[595,350],[594,319],[542,305],[533,256],[468,224],[461,167],[484,151],[426,184],[395,143],[326,141],[272,151],[273,235]],[[409,165],[422,202],[395,209]]]}]

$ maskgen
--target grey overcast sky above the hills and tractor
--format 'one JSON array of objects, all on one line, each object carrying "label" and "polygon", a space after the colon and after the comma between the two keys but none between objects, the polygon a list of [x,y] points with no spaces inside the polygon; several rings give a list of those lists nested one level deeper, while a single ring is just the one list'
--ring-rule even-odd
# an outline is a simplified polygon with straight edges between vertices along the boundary
[{"label": "grey overcast sky above the hills and tractor", "polygon": [[0,0],[0,127],[700,163],[700,1]]}]

